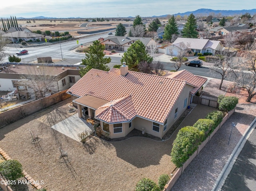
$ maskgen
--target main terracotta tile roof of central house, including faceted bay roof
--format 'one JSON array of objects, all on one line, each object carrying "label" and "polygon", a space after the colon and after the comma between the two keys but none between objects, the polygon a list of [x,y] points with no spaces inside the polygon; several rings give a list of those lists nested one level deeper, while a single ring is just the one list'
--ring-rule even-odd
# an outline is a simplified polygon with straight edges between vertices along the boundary
[{"label": "main terracotta tile roof of central house, including faceted bay roof", "polygon": [[180,79],[134,71],[122,76],[120,69],[91,69],[67,93],[108,100],[110,103],[96,110],[96,116],[109,122],[129,120],[136,114],[163,124],[185,85]]}]

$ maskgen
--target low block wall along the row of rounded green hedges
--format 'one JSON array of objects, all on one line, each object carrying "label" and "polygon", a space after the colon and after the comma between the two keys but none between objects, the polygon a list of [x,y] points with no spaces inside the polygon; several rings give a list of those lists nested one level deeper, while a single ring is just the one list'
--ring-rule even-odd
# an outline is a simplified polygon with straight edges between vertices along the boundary
[{"label": "low block wall along the row of rounded green hedges", "polygon": [[174,173],[174,175],[171,177],[170,181],[164,186],[163,191],[170,191],[175,184],[175,182],[178,180],[180,175],[183,173],[183,171],[186,169],[186,167],[190,164],[190,162],[199,154],[199,152],[204,148],[204,146],[208,143],[208,141],[214,136],[214,134],[221,128],[221,126],[228,120],[228,118],[234,113],[236,108],[228,112],[222,119],[222,122],[216,127],[216,129],[206,138],[204,142],[198,146],[198,149],[190,156],[190,158],[183,164],[182,167],[178,168],[178,170]]}]

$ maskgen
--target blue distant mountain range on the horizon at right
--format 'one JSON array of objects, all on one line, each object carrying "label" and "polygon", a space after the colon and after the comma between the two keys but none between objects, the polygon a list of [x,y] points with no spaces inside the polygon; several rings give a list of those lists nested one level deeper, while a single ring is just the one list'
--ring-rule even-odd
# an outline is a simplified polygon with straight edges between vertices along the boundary
[{"label": "blue distant mountain range on the horizon at right", "polygon": [[[212,10],[212,9],[198,9],[195,11],[188,11],[184,13],[177,13],[174,15],[180,16],[189,16],[193,13],[195,16],[208,16],[210,13],[214,13],[215,15],[220,14],[221,16],[234,16],[234,15],[243,15],[245,13],[250,13],[251,15],[256,14],[256,9],[251,10]],[[159,17],[166,17],[167,15],[161,15]]]}]

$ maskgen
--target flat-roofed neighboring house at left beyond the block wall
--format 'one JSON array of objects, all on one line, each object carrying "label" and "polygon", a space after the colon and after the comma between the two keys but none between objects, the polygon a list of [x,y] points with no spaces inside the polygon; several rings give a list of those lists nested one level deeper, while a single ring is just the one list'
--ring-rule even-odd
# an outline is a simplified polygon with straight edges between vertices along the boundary
[{"label": "flat-roofed neighboring house at left beyond the block wall", "polygon": [[[81,77],[77,65],[63,67],[58,64],[22,64],[5,63],[0,66],[0,91],[14,91],[16,84],[23,81],[23,84],[30,83],[28,79],[40,79],[38,76],[54,76],[56,78],[56,91],[63,91],[70,88]],[[42,79],[42,78],[41,78]],[[27,81],[24,83],[24,81]],[[20,85],[21,86],[21,85]]]}]

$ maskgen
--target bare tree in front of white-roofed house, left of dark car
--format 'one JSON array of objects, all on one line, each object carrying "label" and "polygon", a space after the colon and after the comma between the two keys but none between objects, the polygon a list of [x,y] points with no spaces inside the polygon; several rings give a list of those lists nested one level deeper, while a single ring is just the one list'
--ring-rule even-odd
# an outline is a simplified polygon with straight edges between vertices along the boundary
[{"label": "bare tree in front of white-roofed house, left of dark car", "polygon": [[[189,48],[190,44],[185,45],[184,43],[180,43],[179,50],[177,51],[176,57],[173,57],[171,61],[174,61],[174,67],[176,71],[180,69],[182,63],[186,62],[186,57],[193,56],[194,52]],[[173,55],[173,49],[170,48],[170,55]]]}]

